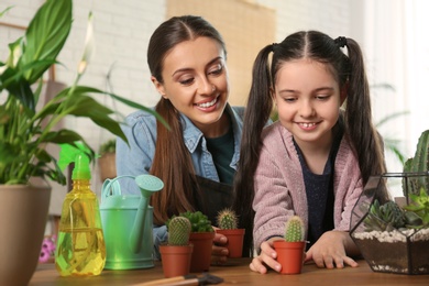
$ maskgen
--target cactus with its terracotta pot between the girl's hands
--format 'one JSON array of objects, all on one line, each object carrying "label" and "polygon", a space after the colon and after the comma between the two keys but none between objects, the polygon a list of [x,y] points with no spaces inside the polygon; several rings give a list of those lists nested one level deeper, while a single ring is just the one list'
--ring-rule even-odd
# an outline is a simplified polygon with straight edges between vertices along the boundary
[{"label": "cactus with its terracotta pot between the girl's hands", "polygon": [[306,248],[305,228],[301,218],[290,217],[285,224],[284,240],[273,242],[277,261],[282,264],[280,274],[300,274]]}]

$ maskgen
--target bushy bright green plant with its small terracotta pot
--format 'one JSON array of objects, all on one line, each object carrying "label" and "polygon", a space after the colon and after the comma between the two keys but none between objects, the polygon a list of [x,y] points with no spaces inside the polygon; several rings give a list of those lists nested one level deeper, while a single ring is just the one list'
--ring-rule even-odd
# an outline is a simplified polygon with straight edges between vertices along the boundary
[{"label": "bushy bright green plant with its small terracotta pot", "polygon": [[211,262],[211,249],[213,245],[215,230],[211,221],[201,211],[182,212],[179,217],[185,217],[190,221],[189,242],[194,244],[190,272],[209,271]]}]

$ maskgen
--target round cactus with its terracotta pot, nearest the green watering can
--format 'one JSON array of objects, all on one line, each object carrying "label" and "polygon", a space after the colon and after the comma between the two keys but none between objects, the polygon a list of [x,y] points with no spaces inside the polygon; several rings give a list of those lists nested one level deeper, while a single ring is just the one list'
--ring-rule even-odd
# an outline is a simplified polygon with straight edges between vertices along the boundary
[{"label": "round cactus with its terracotta pot, nearest the green watering can", "polygon": [[194,249],[189,243],[190,221],[184,217],[174,217],[166,226],[168,242],[160,245],[164,276],[168,278],[188,275]]}]

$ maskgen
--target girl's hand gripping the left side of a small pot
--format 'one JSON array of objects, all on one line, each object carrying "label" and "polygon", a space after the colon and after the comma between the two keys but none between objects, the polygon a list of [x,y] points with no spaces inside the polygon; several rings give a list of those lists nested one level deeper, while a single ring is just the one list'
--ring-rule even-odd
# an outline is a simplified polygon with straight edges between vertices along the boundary
[{"label": "girl's hand gripping the left side of a small pot", "polygon": [[252,263],[249,265],[251,271],[265,274],[267,273],[268,268],[272,268],[276,272],[282,270],[282,265],[276,261],[277,253],[273,249],[273,241],[278,239],[279,238],[272,238],[261,244],[261,254],[254,257]]}]

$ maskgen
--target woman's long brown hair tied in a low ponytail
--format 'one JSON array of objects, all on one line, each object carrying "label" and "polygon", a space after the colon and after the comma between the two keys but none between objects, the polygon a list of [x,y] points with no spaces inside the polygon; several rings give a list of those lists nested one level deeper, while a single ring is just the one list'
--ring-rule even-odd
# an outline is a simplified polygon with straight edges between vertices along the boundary
[{"label": "woman's long brown hair tied in a low ponytail", "polygon": [[[177,44],[199,36],[217,41],[227,55],[221,35],[201,16],[173,16],[162,23],[152,34],[147,47],[147,64],[152,76],[163,84],[162,72],[166,54]],[[164,189],[151,196],[154,223],[162,226],[173,215],[194,210],[193,189],[197,185],[193,161],[184,142],[179,113],[164,98],[161,98],[155,109],[170,128],[168,131],[163,124],[157,124],[155,155],[151,167],[151,174],[164,182]]]}]

